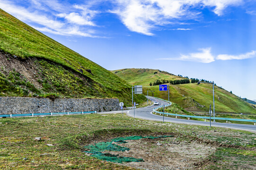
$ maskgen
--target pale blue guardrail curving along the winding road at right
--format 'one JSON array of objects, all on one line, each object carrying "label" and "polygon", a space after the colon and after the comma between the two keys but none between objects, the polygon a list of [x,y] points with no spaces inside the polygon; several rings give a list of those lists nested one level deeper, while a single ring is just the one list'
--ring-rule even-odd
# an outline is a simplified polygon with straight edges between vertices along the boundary
[{"label": "pale blue guardrail curving along the winding road at right", "polygon": [[[157,98],[157,97],[155,97],[155,98]],[[168,102],[168,101],[163,100],[163,99],[160,99],[160,98],[157,98],[157,99],[162,100],[162,101],[165,101],[165,102]],[[170,106],[170,105],[171,105],[171,102],[169,102],[168,105],[165,105],[165,107],[168,107],[168,106]],[[163,105],[154,108],[154,109],[153,109],[153,112],[155,112],[155,113],[160,113],[160,114],[165,114],[165,115],[176,116],[176,118],[177,118],[177,116],[179,116],[179,117],[186,117],[186,118],[188,118],[188,119],[189,119],[189,118],[198,118],[198,119],[204,119],[204,121],[206,121],[206,119],[210,119],[210,117],[204,117],[204,116],[181,115],[181,114],[166,113],[166,112],[164,113],[164,112],[157,111],[159,108],[162,108],[162,107],[163,107]],[[256,125],[256,120],[254,120],[254,119],[233,119],[233,118],[219,118],[219,117],[215,117],[215,118],[211,117],[211,119],[215,119],[215,120],[226,120],[226,122],[228,122],[228,121],[253,122],[254,125]]]}]

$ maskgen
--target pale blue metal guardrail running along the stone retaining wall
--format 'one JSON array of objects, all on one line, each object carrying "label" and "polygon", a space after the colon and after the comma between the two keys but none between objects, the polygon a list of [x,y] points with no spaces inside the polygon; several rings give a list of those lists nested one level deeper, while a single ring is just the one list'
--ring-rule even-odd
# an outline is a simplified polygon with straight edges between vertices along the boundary
[{"label": "pale blue metal guardrail running along the stone retaining wall", "polygon": [[5,114],[5,115],[0,115],[0,117],[19,117],[19,116],[53,116],[53,115],[69,115],[69,114],[86,114],[86,113],[97,113],[97,111],[80,111],[80,112],[52,112],[52,113],[28,113],[28,114]]}]

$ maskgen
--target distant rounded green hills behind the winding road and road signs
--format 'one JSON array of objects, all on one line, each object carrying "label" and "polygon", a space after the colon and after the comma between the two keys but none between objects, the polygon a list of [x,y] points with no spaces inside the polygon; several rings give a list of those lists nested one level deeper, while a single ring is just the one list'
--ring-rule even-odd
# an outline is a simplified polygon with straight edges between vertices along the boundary
[{"label": "distant rounded green hills behind the winding road and road signs", "polygon": [[[154,72],[158,71],[157,74]],[[154,70],[154,69],[121,69],[112,71],[116,75],[120,76],[124,80],[130,82],[133,85],[143,85],[143,93],[147,95],[154,95],[155,97],[168,100],[167,91],[159,91],[159,85],[150,86],[150,82],[154,82],[157,79],[182,79],[184,77],[175,76],[173,74]],[[225,89],[215,85],[215,111],[217,112],[238,112],[238,113],[256,113],[256,107],[245,102],[238,96],[226,91]],[[186,110],[200,111],[209,110],[209,105],[212,104],[212,85],[189,83],[182,85],[170,84],[170,101],[175,102],[182,106]]]}]

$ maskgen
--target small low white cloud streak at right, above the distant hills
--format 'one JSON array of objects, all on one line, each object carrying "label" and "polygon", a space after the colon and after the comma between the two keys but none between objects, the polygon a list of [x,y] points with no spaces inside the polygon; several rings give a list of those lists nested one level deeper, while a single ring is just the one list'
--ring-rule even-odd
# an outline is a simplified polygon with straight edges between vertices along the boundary
[{"label": "small low white cloud streak at right, above the distant hills", "polygon": [[211,63],[215,60],[251,59],[256,57],[256,51],[251,51],[239,55],[220,54],[217,57],[212,55],[211,48],[202,48],[198,49],[198,51],[200,52],[189,53],[188,55],[181,54],[178,58],[162,58],[161,60],[182,60]]}]

